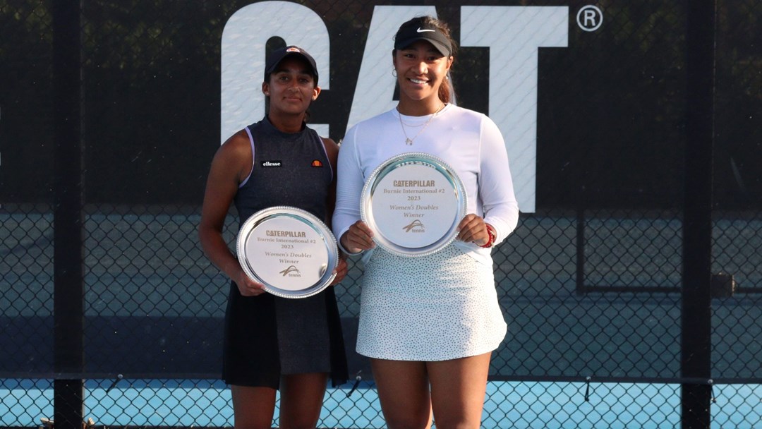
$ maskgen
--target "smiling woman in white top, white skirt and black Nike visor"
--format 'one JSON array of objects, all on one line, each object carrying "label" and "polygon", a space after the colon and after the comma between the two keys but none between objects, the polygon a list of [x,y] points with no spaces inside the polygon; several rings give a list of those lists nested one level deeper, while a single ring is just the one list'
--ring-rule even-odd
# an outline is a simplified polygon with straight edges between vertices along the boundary
[{"label": "smiling woman in white top, white skirt and black Nike visor", "polygon": [[[506,324],[491,247],[516,227],[518,206],[504,141],[488,117],[450,104],[455,43],[447,24],[413,18],[395,35],[394,110],[347,131],[338,159],[333,227],[341,247],[367,251],[357,352],[370,357],[390,428],[479,427],[491,351]],[[376,247],[360,220],[363,184],[386,159],[425,152],[466,188],[456,241],[427,256]]]}]

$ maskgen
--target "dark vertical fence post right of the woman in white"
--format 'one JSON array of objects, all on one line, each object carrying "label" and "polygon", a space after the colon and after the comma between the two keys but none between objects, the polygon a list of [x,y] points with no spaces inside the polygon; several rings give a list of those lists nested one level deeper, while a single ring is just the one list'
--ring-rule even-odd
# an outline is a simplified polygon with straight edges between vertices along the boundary
[{"label": "dark vertical fence post right of the woman in white", "polygon": [[[712,354],[712,143],[715,0],[687,5],[681,357],[682,427],[709,427]],[[704,380],[704,381],[703,381]]]}]

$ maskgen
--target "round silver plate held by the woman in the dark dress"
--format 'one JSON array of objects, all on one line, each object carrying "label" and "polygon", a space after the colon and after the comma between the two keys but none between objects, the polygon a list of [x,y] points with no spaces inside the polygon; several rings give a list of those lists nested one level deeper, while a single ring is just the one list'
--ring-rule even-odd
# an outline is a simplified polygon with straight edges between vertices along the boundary
[{"label": "round silver plate held by the woman in the dark dress", "polygon": [[336,239],[305,210],[274,206],[246,219],[236,241],[248,277],[283,298],[306,298],[328,287],[338,265]]}]

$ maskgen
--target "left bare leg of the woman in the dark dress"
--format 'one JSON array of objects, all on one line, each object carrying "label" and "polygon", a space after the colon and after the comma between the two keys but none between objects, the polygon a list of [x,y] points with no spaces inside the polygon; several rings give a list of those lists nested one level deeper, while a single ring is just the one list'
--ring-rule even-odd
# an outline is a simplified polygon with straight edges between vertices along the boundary
[{"label": "left bare leg of the woman in the dark dress", "polygon": [[270,429],[275,412],[275,389],[230,386],[235,429]]}]

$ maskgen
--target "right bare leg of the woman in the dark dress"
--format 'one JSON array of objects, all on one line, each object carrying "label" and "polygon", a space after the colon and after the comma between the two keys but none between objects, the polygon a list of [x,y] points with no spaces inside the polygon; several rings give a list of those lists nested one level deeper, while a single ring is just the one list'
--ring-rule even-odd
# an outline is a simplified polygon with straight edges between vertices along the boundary
[{"label": "right bare leg of the woman in the dark dress", "polygon": [[280,428],[314,429],[328,383],[326,373],[290,374],[280,378]]}]

